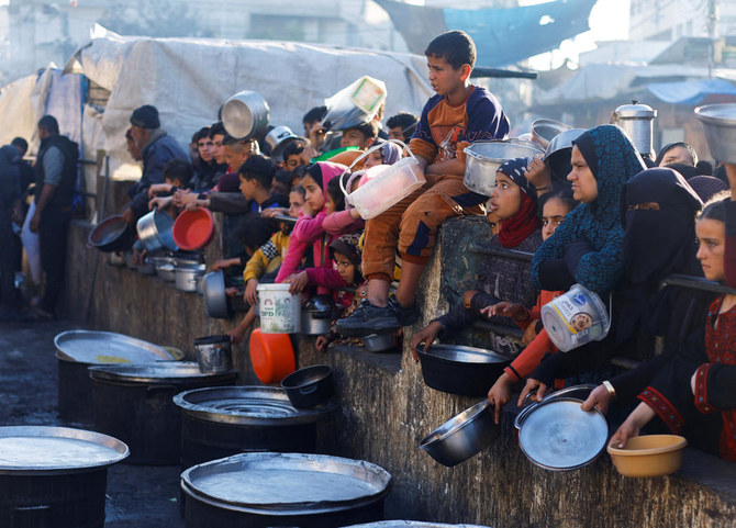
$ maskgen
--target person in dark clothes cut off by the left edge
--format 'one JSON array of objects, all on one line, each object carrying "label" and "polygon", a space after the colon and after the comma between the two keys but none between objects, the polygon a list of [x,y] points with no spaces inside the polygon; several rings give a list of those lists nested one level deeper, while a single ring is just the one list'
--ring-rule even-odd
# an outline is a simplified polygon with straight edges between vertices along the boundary
[{"label": "person in dark clothes cut off by the left edge", "polygon": [[12,145],[0,148],[0,321],[13,318],[15,312],[15,260],[13,220],[20,216],[20,153]]}]

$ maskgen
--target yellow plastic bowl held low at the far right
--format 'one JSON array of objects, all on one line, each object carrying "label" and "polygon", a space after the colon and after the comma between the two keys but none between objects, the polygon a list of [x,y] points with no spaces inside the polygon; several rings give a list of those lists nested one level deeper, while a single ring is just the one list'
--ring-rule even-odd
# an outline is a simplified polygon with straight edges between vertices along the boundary
[{"label": "yellow plastic bowl held low at the far right", "polygon": [[682,450],[688,440],[677,435],[632,437],[623,449],[607,447],[616,471],[624,476],[663,476],[682,465]]}]

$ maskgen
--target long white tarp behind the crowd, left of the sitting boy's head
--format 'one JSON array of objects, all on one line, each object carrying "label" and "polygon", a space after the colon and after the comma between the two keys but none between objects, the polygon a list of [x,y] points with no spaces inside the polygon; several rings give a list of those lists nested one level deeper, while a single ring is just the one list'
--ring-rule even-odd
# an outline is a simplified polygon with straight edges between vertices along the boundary
[{"label": "long white tarp behind the crowd, left of the sitting boy's head", "polygon": [[186,147],[241,90],[259,92],[269,103],[270,124],[298,135],[308,110],[364,75],[386,82],[387,117],[419,114],[433,93],[425,59],[416,55],[275,41],[123,37],[99,26],[93,35],[67,70],[111,91],[101,121],[114,178],[137,176],[124,133],[142,104],[155,105],[161,126]]}]

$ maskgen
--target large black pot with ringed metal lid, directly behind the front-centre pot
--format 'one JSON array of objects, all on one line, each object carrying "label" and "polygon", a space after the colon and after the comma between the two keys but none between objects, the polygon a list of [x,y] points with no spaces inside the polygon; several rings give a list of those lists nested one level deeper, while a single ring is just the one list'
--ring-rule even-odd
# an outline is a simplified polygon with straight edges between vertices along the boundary
[{"label": "large black pot with ringed metal lid, directly behind the front-centre pot", "polygon": [[299,409],[274,386],[223,386],[177,394],[181,465],[246,451],[314,452],[316,425],[335,405]]}]

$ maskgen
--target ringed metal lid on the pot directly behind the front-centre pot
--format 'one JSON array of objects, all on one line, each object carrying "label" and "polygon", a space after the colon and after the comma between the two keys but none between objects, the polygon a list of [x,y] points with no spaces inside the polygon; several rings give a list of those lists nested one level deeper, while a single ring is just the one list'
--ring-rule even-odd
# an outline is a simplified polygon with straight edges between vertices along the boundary
[{"label": "ringed metal lid on the pot directly behind the front-centre pot", "polygon": [[336,408],[334,403],[297,408],[283,389],[257,385],[196,389],[177,394],[174,403],[200,419],[261,426],[311,424]]}]

